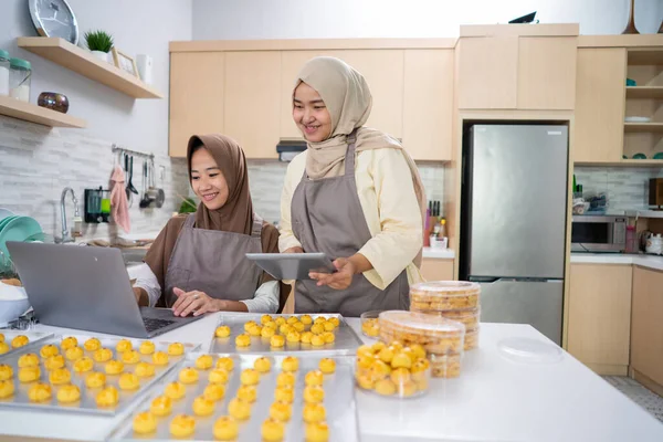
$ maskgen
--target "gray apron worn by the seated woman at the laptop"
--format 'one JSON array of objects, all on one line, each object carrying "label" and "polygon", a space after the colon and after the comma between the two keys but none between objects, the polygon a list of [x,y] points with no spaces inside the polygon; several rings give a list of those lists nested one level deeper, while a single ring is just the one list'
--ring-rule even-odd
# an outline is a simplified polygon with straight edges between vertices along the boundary
[{"label": "gray apron worn by the seated woman at the laptop", "polygon": [[245,253],[262,253],[263,220],[253,214],[251,235],[219,230],[194,229],[196,213],[187,217],[166,272],[166,305],[177,296],[173,287],[200,291],[218,299],[253,298],[262,270]]}]

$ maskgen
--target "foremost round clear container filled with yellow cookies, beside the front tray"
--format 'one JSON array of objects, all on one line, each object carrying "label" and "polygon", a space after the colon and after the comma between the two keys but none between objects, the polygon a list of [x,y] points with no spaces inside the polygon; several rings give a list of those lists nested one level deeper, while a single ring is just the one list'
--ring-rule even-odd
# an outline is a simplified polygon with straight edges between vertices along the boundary
[{"label": "foremost round clear container filled with yellow cookies, beside the front tray", "polygon": [[431,362],[407,347],[378,343],[357,350],[357,386],[378,396],[417,398],[430,385]]}]

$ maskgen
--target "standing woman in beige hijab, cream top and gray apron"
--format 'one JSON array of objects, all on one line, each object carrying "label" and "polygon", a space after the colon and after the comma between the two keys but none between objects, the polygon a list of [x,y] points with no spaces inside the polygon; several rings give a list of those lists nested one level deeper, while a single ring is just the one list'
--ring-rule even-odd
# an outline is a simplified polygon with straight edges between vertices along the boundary
[{"label": "standing woman in beige hijab, cream top and gray apron", "polygon": [[297,76],[293,118],[307,149],[287,169],[278,246],[324,252],[337,269],[297,281],[297,312],[408,309],[421,281],[423,187],[400,143],[364,127],[371,105],[366,80],[338,59],[313,59]]}]

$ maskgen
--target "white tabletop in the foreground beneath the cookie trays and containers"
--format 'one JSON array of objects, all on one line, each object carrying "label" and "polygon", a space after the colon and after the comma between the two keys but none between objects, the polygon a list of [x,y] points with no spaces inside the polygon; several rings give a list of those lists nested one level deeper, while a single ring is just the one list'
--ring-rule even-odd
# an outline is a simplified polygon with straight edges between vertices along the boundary
[{"label": "white tabletop in the foreground beneath the cookie trays and containers", "polygon": [[[200,343],[204,349],[210,344],[218,315],[210,315],[158,339]],[[359,329],[359,319],[348,322]],[[70,333],[54,327],[40,328]],[[433,379],[427,396],[402,401],[357,391],[361,440],[663,440],[661,422],[570,355],[565,352],[560,362],[543,366],[504,359],[497,351],[497,343],[516,336],[549,343],[528,325],[482,324],[480,348],[465,355],[459,379]],[[122,414],[101,418],[0,408],[0,433],[103,440],[123,418]]]}]

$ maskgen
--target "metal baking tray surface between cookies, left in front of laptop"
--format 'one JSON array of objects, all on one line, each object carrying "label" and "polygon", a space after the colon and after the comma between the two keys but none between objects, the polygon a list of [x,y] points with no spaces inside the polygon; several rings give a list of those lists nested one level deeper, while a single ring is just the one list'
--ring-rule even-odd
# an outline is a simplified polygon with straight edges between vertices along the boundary
[{"label": "metal baking tray surface between cookies, left in front of laptop", "polygon": [[[152,386],[155,382],[158,382],[158,380],[164,375],[166,375],[168,371],[170,371],[173,367],[176,367],[178,365],[179,361],[181,361],[185,358],[183,355],[177,356],[177,357],[170,356],[167,366],[155,366],[155,376],[152,376],[150,378],[140,378],[140,382],[141,382],[140,387],[133,391],[126,391],[126,390],[119,389],[119,387],[118,387],[119,375],[106,375],[106,386],[115,386],[119,391],[119,401],[114,408],[98,408],[97,407],[95,399],[96,399],[96,393],[101,390],[101,388],[94,388],[94,389],[87,388],[85,386],[85,375],[87,375],[87,373],[77,373],[76,371],[74,371],[74,369],[73,369],[74,361],[67,360],[65,358],[65,367],[72,373],[72,379],[71,379],[70,383],[78,386],[78,388],[81,389],[81,399],[77,402],[61,404],[56,398],[59,386],[52,386],[51,400],[44,401],[44,402],[31,402],[30,399],[28,398],[28,391],[34,382],[22,383],[19,381],[19,368],[18,368],[19,357],[21,357],[24,354],[29,354],[29,352],[33,352],[33,354],[38,355],[38,357],[40,359],[40,369],[41,369],[41,378],[39,381],[50,383],[49,382],[49,370],[46,370],[46,368],[44,367],[44,358],[42,358],[40,356],[40,349],[44,345],[53,344],[59,348],[60,354],[64,356],[64,351],[62,351],[62,349],[60,348],[60,344],[63,338],[70,337],[70,336],[73,336],[78,340],[78,347],[83,348],[84,356],[88,356],[92,358],[93,351],[85,350],[85,348],[83,347],[83,344],[87,339],[93,338],[95,336],[75,335],[75,334],[65,335],[65,336],[54,336],[49,339],[42,339],[40,341],[40,344],[41,344],[40,346],[34,345],[34,346],[21,347],[21,348],[17,349],[17,351],[13,351],[12,354],[7,354],[7,355],[3,355],[2,357],[0,357],[0,364],[6,364],[6,365],[9,365],[12,367],[12,369],[13,369],[13,378],[12,379],[14,381],[13,397],[0,400],[0,407],[22,408],[22,409],[31,409],[31,410],[69,411],[69,412],[76,412],[76,413],[93,413],[93,414],[102,414],[102,415],[112,415],[112,414],[115,414],[115,413],[122,411],[123,409],[125,409],[125,407],[129,406],[138,397],[144,394],[149,389],[150,386]],[[120,338],[97,338],[97,339],[99,339],[99,341],[102,343],[102,347],[113,350],[113,359],[119,358],[118,354],[115,349],[115,346],[120,340]],[[147,339],[130,339],[129,338],[127,340],[130,340],[131,344],[134,345],[134,349],[137,350],[138,347],[140,346],[140,343],[143,343],[144,340],[147,340]],[[168,345],[171,344],[171,343],[161,343],[161,341],[156,341],[156,340],[152,340],[152,341],[155,344],[155,351],[167,351]],[[200,347],[199,344],[185,344],[185,355],[187,352],[197,350],[199,347]],[[145,361],[145,362],[151,361],[151,355],[140,355],[140,361]],[[105,362],[94,361],[93,370],[105,372],[104,366],[105,366]],[[136,364],[125,364],[124,372],[133,372],[135,367],[136,367]]]}]

